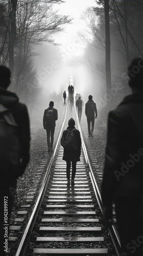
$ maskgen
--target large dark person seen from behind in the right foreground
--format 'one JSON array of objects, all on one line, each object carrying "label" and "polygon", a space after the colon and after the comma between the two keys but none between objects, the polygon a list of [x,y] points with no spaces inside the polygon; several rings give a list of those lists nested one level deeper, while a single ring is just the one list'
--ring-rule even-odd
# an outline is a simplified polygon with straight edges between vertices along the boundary
[{"label": "large dark person seen from behind in the right foreground", "polygon": [[115,202],[120,255],[142,255],[143,193],[143,60],[135,58],[129,68],[132,94],[108,116],[102,201],[104,219],[112,217]]}]

